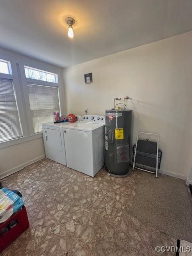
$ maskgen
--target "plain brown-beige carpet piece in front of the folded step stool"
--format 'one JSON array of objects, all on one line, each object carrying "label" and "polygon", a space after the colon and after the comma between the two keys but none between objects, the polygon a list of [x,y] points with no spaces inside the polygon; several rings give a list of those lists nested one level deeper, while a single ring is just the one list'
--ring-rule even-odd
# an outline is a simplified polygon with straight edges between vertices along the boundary
[{"label": "plain brown-beige carpet piece in front of the folded step stool", "polygon": [[189,196],[184,180],[162,174],[155,178],[154,174],[141,172],[132,214],[176,239],[192,242]]}]

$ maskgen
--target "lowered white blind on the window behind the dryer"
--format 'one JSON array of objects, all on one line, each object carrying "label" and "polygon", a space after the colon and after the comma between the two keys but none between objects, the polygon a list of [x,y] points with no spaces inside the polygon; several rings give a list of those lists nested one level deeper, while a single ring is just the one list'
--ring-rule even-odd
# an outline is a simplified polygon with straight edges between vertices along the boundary
[{"label": "lowered white blind on the window behind the dryer", "polygon": [[53,121],[53,111],[59,111],[58,88],[28,84],[34,132],[42,131],[42,123]]}]

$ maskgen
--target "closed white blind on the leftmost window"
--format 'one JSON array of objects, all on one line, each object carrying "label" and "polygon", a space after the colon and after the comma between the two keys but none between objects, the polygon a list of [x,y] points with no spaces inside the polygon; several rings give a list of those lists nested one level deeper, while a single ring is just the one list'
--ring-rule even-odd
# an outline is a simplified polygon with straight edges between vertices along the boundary
[{"label": "closed white blind on the leftmost window", "polygon": [[0,142],[22,137],[13,81],[0,78]]}]

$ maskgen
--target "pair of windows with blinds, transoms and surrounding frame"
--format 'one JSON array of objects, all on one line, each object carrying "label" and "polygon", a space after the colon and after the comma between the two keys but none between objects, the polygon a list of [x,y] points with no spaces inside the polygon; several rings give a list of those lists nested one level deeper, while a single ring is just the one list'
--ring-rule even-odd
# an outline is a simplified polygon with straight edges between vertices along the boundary
[{"label": "pair of windows with blinds, transoms and surrounding frame", "polygon": [[42,123],[63,108],[61,74],[56,66],[0,50],[0,149],[42,137]]}]

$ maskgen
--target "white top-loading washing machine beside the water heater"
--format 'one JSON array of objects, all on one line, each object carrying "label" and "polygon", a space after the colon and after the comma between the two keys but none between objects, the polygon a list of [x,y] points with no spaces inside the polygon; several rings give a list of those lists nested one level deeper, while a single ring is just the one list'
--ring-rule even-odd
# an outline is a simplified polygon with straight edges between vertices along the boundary
[{"label": "white top-loading washing machine beside the water heater", "polygon": [[104,165],[104,116],[82,116],[63,126],[69,168],[94,177]]}]

